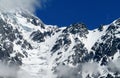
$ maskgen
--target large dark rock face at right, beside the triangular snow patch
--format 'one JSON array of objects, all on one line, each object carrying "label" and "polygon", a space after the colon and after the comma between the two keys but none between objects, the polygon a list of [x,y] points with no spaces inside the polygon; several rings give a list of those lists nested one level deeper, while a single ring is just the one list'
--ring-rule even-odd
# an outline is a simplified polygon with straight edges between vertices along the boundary
[{"label": "large dark rock face at right, beside the triangular snow patch", "polygon": [[[110,25],[107,29],[107,33],[101,37],[101,40],[104,42],[96,42],[92,49],[95,51],[94,60],[107,62],[107,57],[114,56],[114,54],[119,50],[120,38],[115,36],[115,32],[118,27]],[[118,31],[119,32],[119,31]]]}]

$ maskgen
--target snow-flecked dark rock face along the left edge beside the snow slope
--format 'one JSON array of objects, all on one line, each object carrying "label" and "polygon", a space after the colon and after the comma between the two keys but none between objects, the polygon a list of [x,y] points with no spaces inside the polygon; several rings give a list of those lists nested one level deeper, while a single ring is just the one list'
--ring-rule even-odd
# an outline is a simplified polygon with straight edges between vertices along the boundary
[{"label": "snow-flecked dark rock face along the left edge beside the snow slope", "polygon": [[[23,38],[21,32],[19,32],[18,29],[13,28],[13,26],[7,23],[5,20],[0,17],[0,62],[7,65],[8,67],[15,67],[16,70],[19,70],[19,66],[22,65],[22,58],[27,56],[27,54],[21,54],[21,52],[24,49],[32,49],[32,46]],[[21,46],[21,52],[14,50],[14,42],[18,42],[16,45]]]}]

